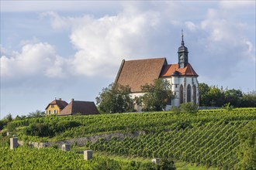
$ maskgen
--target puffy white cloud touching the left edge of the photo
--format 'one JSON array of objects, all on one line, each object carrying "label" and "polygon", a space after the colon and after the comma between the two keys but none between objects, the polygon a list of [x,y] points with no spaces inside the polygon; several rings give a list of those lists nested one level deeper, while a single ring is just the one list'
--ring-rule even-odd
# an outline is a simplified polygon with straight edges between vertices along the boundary
[{"label": "puffy white cloud touching the left edge of the photo", "polygon": [[[55,53],[53,46],[46,42],[26,44],[21,53],[14,56],[1,56],[1,76],[22,78],[26,76],[64,76],[61,73],[63,59]],[[56,72],[54,72],[54,71]]]}]

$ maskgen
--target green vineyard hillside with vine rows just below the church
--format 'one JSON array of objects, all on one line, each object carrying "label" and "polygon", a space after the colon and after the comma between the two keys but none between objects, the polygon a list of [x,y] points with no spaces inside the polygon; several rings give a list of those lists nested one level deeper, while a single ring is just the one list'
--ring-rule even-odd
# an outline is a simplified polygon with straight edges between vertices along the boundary
[{"label": "green vineyard hillside with vine rows just below the church", "polygon": [[[255,146],[256,108],[199,110],[197,114],[152,112],[42,117],[12,121],[9,128],[14,129],[19,141],[53,143],[100,134],[123,134],[122,138],[117,135],[71,145],[75,147],[79,143],[112,155],[171,158],[232,169],[243,166],[241,155]],[[247,145],[248,140],[251,145]]]}]

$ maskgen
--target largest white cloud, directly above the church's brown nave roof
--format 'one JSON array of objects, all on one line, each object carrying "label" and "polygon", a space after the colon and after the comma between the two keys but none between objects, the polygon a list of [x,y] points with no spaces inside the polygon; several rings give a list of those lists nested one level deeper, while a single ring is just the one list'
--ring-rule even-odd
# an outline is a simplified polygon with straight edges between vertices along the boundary
[{"label": "largest white cloud, directly above the church's brown nave roof", "polygon": [[74,73],[113,76],[122,59],[129,59],[140,47],[143,49],[148,33],[159,24],[158,15],[131,10],[99,19],[89,15],[67,18],[47,12],[54,29],[71,28],[70,39],[78,49],[71,61]]}]

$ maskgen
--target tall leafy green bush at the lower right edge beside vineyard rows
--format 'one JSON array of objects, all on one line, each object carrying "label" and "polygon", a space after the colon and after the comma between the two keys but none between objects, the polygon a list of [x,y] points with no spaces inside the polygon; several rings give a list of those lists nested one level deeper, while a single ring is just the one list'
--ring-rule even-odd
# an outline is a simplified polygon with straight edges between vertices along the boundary
[{"label": "tall leafy green bush at the lower right edge beside vineyard rows", "polygon": [[249,122],[238,134],[240,145],[237,155],[240,162],[237,169],[256,169],[256,121]]}]

